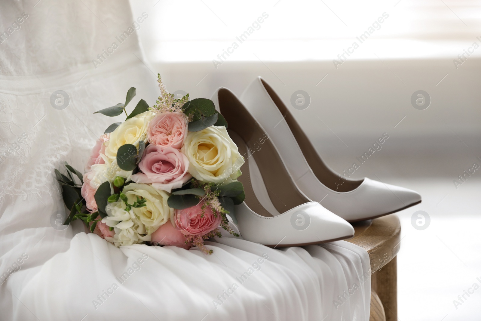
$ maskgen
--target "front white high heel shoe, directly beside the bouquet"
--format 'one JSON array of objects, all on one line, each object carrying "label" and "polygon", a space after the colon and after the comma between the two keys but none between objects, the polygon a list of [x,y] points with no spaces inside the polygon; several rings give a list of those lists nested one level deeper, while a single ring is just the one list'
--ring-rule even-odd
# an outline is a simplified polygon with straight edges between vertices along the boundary
[{"label": "front white high heel shoe, directly beside the bouquet", "polygon": [[221,87],[212,101],[227,120],[229,136],[246,161],[239,177],[245,201],[235,205],[235,217],[244,239],[286,247],[354,236],[348,222],[299,191],[266,131],[232,91]]}]

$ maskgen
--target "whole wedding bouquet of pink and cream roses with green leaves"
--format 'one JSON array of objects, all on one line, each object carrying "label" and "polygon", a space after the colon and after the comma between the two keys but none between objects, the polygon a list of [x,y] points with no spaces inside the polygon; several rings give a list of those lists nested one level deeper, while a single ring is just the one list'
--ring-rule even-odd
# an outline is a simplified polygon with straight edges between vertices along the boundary
[{"label": "whole wedding bouquet of pink and cream roses with green leaves", "polygon": [[67,175],[55,170],[70,209],[65,224],[81,219],[115,246],[198,246],[211,254],[204,240],[220,237],[219,228],[239,236],[226,214],[235,219],[234,205],[244,200],[237,181],[244,159],[211,100],[176,99],[160,75],[158,82],[152,107],[141,99],[127,114],[132,87],[125,103],[95,112],[127,118],[105,130],[84,174],[67,163]]}]

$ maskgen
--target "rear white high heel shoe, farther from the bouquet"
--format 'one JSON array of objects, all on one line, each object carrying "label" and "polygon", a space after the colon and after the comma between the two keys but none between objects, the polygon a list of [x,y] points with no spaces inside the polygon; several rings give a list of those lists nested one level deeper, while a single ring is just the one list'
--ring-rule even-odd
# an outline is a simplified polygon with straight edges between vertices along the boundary
[{"label": "rear white high heel shoe, farther from the bouquet", "polygon": [[355,222],[391,214],[421,202],[421,195],[415,191],[368,178],[350,180],[330,169],[286,105],[261,77],[249,85],[241,100],[266,128],[299,189],[310,199],[322,201],[331,212]]}]

